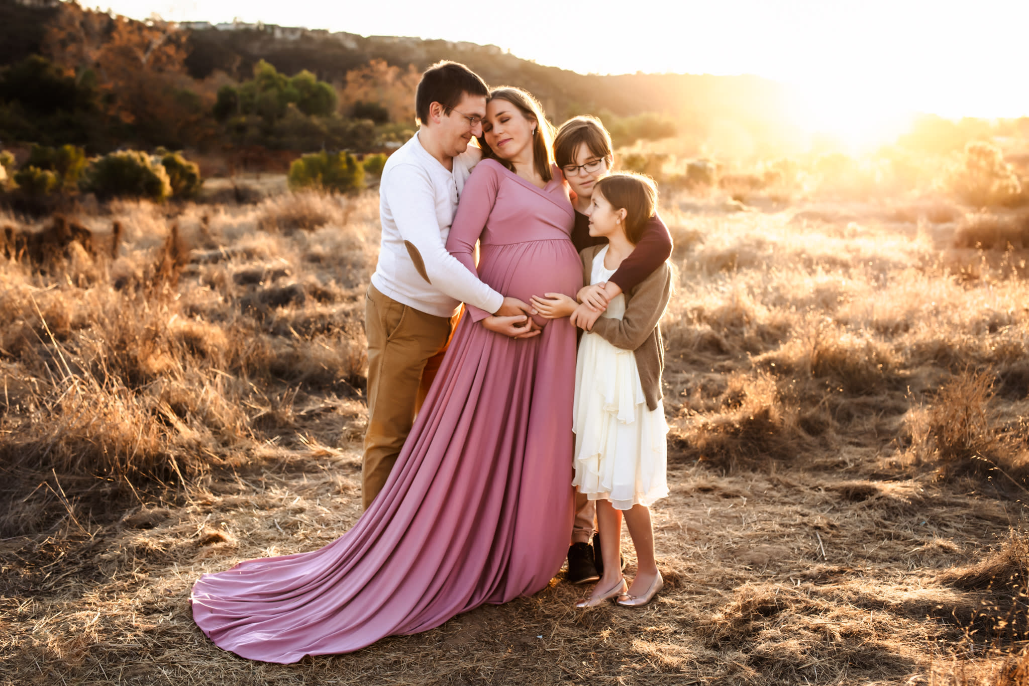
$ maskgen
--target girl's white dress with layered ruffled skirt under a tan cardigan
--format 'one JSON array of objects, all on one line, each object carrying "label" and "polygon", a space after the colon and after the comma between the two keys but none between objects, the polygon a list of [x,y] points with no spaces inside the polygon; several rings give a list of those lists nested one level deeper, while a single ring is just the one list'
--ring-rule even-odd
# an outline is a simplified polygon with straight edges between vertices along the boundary
[{"label": "girl's white dress with layered ruffled skirt under a tan cardigan", "polygon": [[[607,247],[593,260],[590,283],[607,281]],[[618,295],[601,317],[622,319],[626,298]],[[647,409],[636,356],[583,332],[575,360],[575,479],[590,500],[609,500],[618,510],[649,506],[668,495],[668,423],[665,408]]]}]

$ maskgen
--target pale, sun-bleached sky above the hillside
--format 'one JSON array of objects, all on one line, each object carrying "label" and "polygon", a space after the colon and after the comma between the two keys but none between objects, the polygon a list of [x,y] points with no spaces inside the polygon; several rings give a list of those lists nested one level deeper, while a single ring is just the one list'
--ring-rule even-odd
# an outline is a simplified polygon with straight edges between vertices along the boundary
[{"label": "pale, sun-bleached sky above the hillside", "polygon": [[1024,0],[112,0],[110,8],[492,43],[581,73],[756,74],[797,85],[805,116],[827,128],[911,111],[1029,115]]}]

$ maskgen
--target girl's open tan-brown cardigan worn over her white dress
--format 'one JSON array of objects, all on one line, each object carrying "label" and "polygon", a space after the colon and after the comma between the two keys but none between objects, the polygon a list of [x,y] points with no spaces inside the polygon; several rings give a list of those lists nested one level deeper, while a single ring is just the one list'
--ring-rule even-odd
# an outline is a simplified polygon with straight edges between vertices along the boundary
[{"label": "girl's open tan-brown cardigan worn over her white dress", "polygon": [[[582,258],[583,283],[589,285],[593,276],[593,259],[604,248],[590,246],[579,253]],[[636,356],[640,385],[651,411],[665,397],[661,388],[661,372],[665,368],[665,346],[661,339],[661,321],[672,295],[672,267],[665,262],[649,277],[631,288],[626,296],[626,314],[622,319],[601,317],[593,325],[593,332],[622,350],[631,350]]]}]

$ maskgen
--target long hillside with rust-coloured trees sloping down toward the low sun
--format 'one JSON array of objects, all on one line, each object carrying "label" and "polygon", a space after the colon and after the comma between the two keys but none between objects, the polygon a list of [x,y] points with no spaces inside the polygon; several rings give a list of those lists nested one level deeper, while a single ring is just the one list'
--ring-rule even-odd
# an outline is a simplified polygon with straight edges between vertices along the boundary
[{"label": "long hillside with rust-coloured trees sloping down toward the low sun", "polygon": [[[159,69],[146,64],[148,45],[163,53],[164,66]],[[152,72],[141,74],[138,83],[132,82],[133,69],[126,67],[129,63],[111,65],[112,61],[123,60],[127,47],[135,50],[136,60],[144,61],[144,71]],[[217,138],[210,127],[179,132],[178,124],[164,121],[161,113],[178,109],[178,121],[205,117],[213,105],[214,91],[226,82],[239,83],[251,78],[261,60],[282,74],[291,76],[307,70],[333,84],[341,94],[340,112],[344,116],[349,116],[347,87],[355,71],[382,62],[402,73],[420,72],[447,59],[467,64],[491,84],[528,89],[540,100],[555,122],[575,114],[594,113],[602,115],[610,125],[616,117],[655,112],[675,122],[680,137],[693,150],[717,138],[716,131],[719,128],[724,131],[726,127],[736,132],[734,136],[758,141],[755,147],[764,146],[762,151],[768,154],[781,152],[783,141],[789,139],[783,115],[787,88],[755,76],[584,75],[523,60],[496,45],[365,37],[264,24],[215,27],[206,22],[177,25],[137,22],[52,0],[0,0],[0,77],[3,68],[14,68],[34,55],[54,62],[64,73],[74,72],[79,84],[96,82],[98,88],[87,94],[86,99],[97,101],[95,109],[108,114],[112,107],[101,102],[104,93],[122,101],[127,99],[123,94],[138,93],[133,103],[122,103],[120,109],[129,113],[118,115],[117,125],[108,122],[94,127],[95,131],[104,129],[108,132],[106,136],[94,133],[76,137],[75,142],[94,149],[127,144],[210,147]],[[411,97],[410,86],[406,82],[402,86],[404,98]],[[396,97],[394,94],[394,100]],[[10,106],[13,100],[24,99],[10,95],[5,98],[0,93],[0,108],[5,105],[4,100]],[[0,140],[28,137],[50,144],[68,142],[58,140],[62,127],[34,131],[32,119],[26,122],[22,118],[23,110],[0,112]],[[71,118],[81,116],[73,114]],[[406,119],[394,120],[410,123]],[[132,130],[119,129],[126,123],[135,125]],[[169,131],[176,133],[163,134]],[[274,136],[269,132],[259,138],[262,144],[277,147],[270,142]]]}]

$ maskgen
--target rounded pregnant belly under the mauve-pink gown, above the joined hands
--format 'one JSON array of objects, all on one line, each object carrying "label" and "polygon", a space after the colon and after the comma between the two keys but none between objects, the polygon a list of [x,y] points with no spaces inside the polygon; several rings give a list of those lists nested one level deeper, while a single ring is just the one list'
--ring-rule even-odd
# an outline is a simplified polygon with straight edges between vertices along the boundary
[{"label": "rounded pregnant belly under the mauve-pink gown, above the joined hands", "polygon": [[[574,298],[582,287],[582,263],[571,241],[483,246],[478,274],[494,290],[524,302],[544,293]],[[533,319],[540,326],[549,321]]]}]

